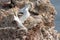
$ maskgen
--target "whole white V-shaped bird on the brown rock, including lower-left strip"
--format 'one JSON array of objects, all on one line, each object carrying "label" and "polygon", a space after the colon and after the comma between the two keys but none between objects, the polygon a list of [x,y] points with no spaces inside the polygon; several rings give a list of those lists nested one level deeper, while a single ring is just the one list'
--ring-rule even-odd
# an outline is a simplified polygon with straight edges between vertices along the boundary
[{"label": "whole white V-shaped bird on the brown rock, including lower-left strip", "polygon": [[30,16],[30,13],[28,11],[29,8],[30,8],[30,5],[27,4],[27,5],[25,5],[25,7],[23,7],[22,9],[19,10],[19,12],[23,13],[23,16],[21,18],[14,15],[14,20],[17,22],[18,27],[25,29],[26,31],[27,31],[27,28],[23,25],[23,23]]}]

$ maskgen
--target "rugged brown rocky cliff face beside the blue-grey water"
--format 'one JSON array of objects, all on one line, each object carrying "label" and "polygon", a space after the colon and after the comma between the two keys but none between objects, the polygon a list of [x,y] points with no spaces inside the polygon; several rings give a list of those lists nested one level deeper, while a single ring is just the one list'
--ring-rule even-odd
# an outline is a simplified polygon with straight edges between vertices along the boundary
[{"label": "rugged brown rocky cliff face beside the blue-grey water", "polygon": [[[55,28],[56,10],[50,0],[14,0],[16,7],[9,7],[10,0],[0,3],[0,40],[59,40]],[[17,27],[13,12],[18,12],[31,2],[30,17],[23,23],[28,29]],[[12,11],[15,10],[15,11]],[[21,17],[23,14],[18,15]]]}]

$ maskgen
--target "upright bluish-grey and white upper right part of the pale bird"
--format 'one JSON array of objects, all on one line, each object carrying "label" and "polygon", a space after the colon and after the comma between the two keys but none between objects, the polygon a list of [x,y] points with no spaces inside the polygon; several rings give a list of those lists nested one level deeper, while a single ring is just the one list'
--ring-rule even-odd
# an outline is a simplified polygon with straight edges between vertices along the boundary
[{"label": "upright bluish-grey and white upper right part of the pale bird", "polygon": [[25,5],[24,8],[20,9],[20,12],[23,13],[23,16],[20,18],[21,22],[24,23],[24,21],[30,16],[30,13],[29,13],[29,5]]}]

